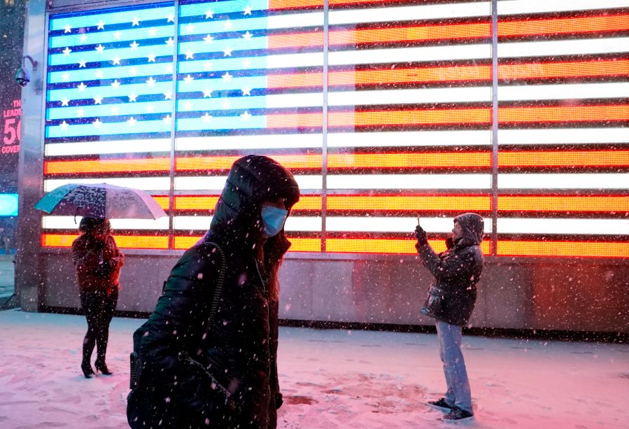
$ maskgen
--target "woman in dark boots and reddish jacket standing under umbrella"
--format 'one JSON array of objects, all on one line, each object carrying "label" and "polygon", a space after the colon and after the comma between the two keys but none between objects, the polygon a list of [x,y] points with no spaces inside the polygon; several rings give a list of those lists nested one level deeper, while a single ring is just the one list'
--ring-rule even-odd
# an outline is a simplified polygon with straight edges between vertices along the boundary
[{"label": "woman in dark boots and reddish jacket standing under umbrella", "polygon": [[96,370],[105,375],[112,374],[105,363],[105,354],[109,323],[118,303],[120,269],[125,263],[125,255],[115,244],[108,219],[82,218],[78,229],[81,234],[72,243],[72,259],[81,307],[87,318],[81,370],[85,378],[90,379],[94,374],[91,365],[94,345],[97,346]]}]

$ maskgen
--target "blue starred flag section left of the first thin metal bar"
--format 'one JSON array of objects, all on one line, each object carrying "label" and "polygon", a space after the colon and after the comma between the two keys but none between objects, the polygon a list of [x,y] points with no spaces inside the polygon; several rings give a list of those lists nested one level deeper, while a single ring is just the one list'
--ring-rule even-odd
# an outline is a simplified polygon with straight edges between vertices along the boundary
[{"label": "blue starred flag section left of the first thin metal bar", "polygon": [[48,142],[171,132],[174,3],[52,15]]}]

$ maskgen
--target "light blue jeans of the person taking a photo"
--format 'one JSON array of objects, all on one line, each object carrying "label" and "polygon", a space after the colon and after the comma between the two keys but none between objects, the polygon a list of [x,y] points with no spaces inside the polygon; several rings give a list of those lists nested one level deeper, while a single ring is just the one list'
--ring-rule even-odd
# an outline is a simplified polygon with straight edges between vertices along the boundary
[{"label": "light blue jeans of the person taking a photo", "polygon": [[439,358],[444,363],[446,375],[446,402],[448,405],[465,409],[472,413],[472,392],[469,390],[465,360],[461,353],[461,327],[437,321],[437,339],[439,340]]}]

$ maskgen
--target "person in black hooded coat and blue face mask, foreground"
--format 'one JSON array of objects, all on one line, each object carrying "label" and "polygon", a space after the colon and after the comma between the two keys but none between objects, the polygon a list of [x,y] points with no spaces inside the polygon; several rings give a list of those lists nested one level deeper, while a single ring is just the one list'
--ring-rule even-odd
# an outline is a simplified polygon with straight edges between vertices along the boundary
[{"label": "person in black hooded coat and blue face mask, foreground", "polygon": [[[129,426],[276,428],[277,272],[290,246],[285,217],[298,200],[295,178],[278,162],[234,162],[210,230],[177,262],[134,334],[141,372]],[[224,286],[207,325],[221,253]]]}]

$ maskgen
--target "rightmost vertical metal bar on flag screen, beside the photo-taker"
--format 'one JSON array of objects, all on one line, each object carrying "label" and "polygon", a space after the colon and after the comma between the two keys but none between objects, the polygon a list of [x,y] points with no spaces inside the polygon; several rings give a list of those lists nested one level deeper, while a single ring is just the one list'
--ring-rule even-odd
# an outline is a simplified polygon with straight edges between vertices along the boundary
[{"label": "rightmost vertical metal bar on flag screen, beside the photo-taker", "polygon": [[498,0],[491,0],[491,254],[498,246]]}]

